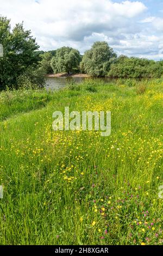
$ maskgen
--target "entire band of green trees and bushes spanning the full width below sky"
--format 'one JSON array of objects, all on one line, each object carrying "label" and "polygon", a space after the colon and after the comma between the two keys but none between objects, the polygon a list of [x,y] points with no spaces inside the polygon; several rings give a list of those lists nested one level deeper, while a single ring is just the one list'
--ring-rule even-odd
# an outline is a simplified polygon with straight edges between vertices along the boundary
[{"label": "entire band of green trees and bushes spanning the full width below sky", "polygon": [[30,31],[17,24],[12,30],[10,20],[0,16],[0,89],[7,87],[42,87],[47,74],[84,73],[93,77],[142,78],[161,77],[163,61],[127,56],[117,57],[107,42],[95,42],[82,56],[71,47],[39,51]]}]

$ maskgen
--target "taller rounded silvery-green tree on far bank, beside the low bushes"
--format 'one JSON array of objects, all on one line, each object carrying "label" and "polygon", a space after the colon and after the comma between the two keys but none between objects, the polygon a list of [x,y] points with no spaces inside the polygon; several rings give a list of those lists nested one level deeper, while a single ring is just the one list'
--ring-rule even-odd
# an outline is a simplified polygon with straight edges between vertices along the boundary
[{"label": "taller rounded silvery-green tree on far bank, beside the low bushes", "polygon": [[80,70],[91,76],[103,77],[108,74],[110,64],[116,57],[107,42],[95,42],[91,50],[84,53]]}]

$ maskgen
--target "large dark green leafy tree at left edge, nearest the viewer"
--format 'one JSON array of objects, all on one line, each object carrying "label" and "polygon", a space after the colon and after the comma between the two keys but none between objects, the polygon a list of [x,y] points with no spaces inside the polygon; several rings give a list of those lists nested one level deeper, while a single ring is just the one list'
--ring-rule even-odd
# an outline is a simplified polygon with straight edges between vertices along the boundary
[{"label": "large dark green leafy tree at left edge, nearest the viewer", "polygon": [[0,88],[17,85],[17,78],[30,66],[38,63],[36,50],[39,46],[30,31],[25,31],[23,23],[17,24],[11,31],[10,20],[0,16],[0,44],[4,55],[0,58]]}]

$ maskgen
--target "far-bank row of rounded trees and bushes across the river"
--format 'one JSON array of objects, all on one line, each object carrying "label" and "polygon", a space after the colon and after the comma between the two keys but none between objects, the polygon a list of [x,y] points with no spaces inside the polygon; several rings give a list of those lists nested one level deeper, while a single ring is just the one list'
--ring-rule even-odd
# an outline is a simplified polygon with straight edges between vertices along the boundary
[{"label": "far-bank row of rounded trees and bushes across the river", "polygon": [[[45,53],[44,58],[47,58]],[[95,42],[90,50],[81,56],[70,47],[59,48],[49,60],[54,74],[67,72],[84,73],[93,77],[115,78],[160,78],[163,75],[163,60],[155,62],[145,58],[127,57],[116,53],[107,42]]]}]

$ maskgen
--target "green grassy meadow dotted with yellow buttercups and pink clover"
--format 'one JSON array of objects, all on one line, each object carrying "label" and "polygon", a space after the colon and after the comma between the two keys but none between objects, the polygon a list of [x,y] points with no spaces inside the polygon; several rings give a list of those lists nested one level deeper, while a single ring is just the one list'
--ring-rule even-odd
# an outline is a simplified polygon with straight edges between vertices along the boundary
[{"label": "green grassy meadow dotted with yellow buttercups and pink clover", "polygon": [[[111,136],[52,129],[111,111]],[[0,245],[163,243],[163,80],[0,93]]]}]

